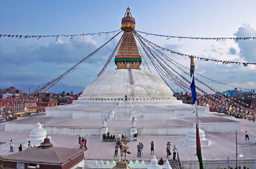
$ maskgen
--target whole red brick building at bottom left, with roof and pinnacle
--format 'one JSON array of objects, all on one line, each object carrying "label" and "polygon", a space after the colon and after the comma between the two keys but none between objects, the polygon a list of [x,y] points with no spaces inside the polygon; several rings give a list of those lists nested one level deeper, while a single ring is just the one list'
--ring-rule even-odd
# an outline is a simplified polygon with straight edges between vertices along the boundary
[{"label": "whole red brick building at bottom left, with roof and pinnacle", "polygon": [[83,169],[85,149],[54,147],[46,137],[41,146],[34,146],[3,157],[4,169]]}]

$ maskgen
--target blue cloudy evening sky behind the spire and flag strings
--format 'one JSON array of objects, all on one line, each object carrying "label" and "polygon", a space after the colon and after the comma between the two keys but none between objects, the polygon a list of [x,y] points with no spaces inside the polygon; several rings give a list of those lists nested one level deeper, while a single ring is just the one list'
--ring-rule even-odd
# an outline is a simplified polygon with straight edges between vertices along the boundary
[{"label": "blue cloudy evening sky behind the spire and flag strings", "polygon": [[[56,35],[116,31],[126,8],[136,19],[136,30],[186,37],[256,37],[255,0],[0,0],[0,34]],[[256,40],[166,39],[145,36],[157,45],[184,54],[234,62],[256,62]],[[83,37],[0,38],[0,88],[15,86],[28,92],[54,79],[113,37],[102,34]],[[121,35],[49,92],[78,93],[97,76]],[[189,67],[183,56],[164,52]],[[145,55],[146,56],[146,55]],[[158,76],[146,59],[152,73]],[[244,88],[256,88],[255,66],[222,65],[195,60],[195,71],[210,79]],[[108,70],[116,68],[114,60]],[[144,69],[141,66],[142,69]],[[146,69],[147,70],[147,69]],[[147,70],[148,71],[148,70]],[[184,75],[185,76],[185,75]],[[233,89],[200,76],[199,80],[218,90]],[[191,80],[189,76],[187,79]],[[171,81],[170,87],[181,91]],[[197,82],[196,82],[197,83]],[[196,84],[202,89],[207,87]]]}]

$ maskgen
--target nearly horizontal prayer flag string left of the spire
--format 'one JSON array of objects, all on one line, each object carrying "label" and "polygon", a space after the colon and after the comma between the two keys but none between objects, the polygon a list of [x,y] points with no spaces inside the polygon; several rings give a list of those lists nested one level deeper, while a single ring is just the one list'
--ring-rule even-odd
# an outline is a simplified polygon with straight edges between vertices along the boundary
[{"label": "nearly horizontal prayer flag string left of the spire", "polygon": [[118,31],[121,31],[121,29],[117,30],[117,31],[110,31],[110,32],[99,32],[99,33],[87,33],[87,34],[72,34],[72,35],[64,35],[64,34],[61,34],[61,35],[12,35],[12,34],[0,34],[0,37],[15,37],[15,38],[41,38],[41,37],[56,37],[56,41],[58,40],[58,37],[70,37],[70,39],[72,39],[73,37],[77,37],[77,36],[84,36],[84,35],[89,35],[89,36],[92,36],[92,35],[101,35],[101,34],[109,34],[109,33],[113,33],[115,34],[115,32],[118,32]]}]

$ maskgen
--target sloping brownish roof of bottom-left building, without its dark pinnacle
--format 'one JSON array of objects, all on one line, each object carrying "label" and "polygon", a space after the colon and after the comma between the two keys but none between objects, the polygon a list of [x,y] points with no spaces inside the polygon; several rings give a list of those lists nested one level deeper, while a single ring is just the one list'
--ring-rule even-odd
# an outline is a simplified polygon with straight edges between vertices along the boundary
[{"label": "sloping brownish roof of bottom-left building, without its dark pinnacle", "polygon": [[12,155],[3,157],[3,161],[23,161],[23,162],[44,162],[49,164],[64,164],[70,159],[84,152],[84,149],[69,149],[64,147],[52,147],[40,149],[34,146]]}]

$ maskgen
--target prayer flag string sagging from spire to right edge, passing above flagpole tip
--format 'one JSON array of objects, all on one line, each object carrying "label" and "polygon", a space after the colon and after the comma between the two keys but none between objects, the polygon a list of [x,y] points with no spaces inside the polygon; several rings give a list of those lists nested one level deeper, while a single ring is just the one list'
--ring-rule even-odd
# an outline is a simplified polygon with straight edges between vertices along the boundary
[{"label": "prayer flag string sagging from spire to right edge, passing above flagpole tip", "polygon": [[145,39],[145,38],[142,37],[140,34],[137,34],[137,35],[138,35],[140,38],[142,38],[144,41],[149,42],[151,45],[154,45],[154,46],[156,46],[157,48],[162,49],[163,51],[166,50],[166,51],[171,52],[172,54],[177,54],[177,55],[179,55],[179,56],[185,56],[185,57],[189,57],[189,58],[190,58],[190,57],[194,57],[194,58],[200,59],[200,60],[202,60],[202,61],[212,61],[212,62],[217,62],[217,63],[218,63],[218,62],[220,62],[220,63],[222,62],[222,64],[225,64],[225,65],[230,64],[230,63],[235,63],[235,64],[239,64],[239,65],[242,64],[242,65],[244,65],[244,66],[256,65],[256,63],[224,61],[224,60],[216,60],[216,59],[209,59],[209,58],[203,58],[203,57],[198,57],[198,56],[193,56],[193,55],[182,54],[182,53],[179,53],[179,52],[176,52],[176,51],[172,51],[172,50],[163,48],[163,47],[161,47],[161,46],[159,46],[159,45],[157,45],[157,44],[155,44],[155,43],[153,43],[153,42],[151,42],[151,41]]}]

